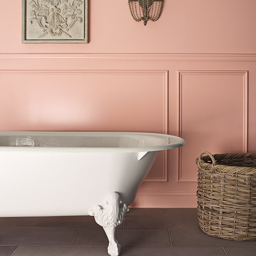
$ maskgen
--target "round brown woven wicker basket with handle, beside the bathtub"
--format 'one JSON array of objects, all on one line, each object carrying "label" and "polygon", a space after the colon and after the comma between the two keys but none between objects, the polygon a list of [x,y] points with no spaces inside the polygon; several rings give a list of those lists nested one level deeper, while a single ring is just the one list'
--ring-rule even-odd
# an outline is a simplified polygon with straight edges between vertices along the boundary
[{"label": "round brown woven wicker basket with handle, beside the bathtub", "polygon": [[256,240],[256,154],[204,151],[196,164],[200,228],[219,238]]}]

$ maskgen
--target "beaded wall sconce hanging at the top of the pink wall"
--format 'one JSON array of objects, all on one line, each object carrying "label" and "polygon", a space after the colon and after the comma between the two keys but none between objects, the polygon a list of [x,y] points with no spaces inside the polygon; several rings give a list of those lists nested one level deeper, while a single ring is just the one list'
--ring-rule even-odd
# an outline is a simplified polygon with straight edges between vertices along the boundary
[{"label": "beaded wall sconce hanging at the top of the pink wall", "polygon": [[156,21],[162,12],[164,0],[128,0],[132,18],[136,21]]}]

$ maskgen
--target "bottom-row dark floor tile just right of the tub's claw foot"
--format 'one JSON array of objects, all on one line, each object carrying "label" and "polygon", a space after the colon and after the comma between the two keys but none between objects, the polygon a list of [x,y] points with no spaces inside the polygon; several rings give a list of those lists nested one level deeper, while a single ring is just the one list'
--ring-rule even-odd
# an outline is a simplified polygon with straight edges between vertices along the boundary
[{"label": "bottom-row dark floor tile just right of the tub's claw foot", "polygon": [[[226,256],[221,247],[122,247],[121,256]],[[22,255],[23,256],[23,255]]]}]

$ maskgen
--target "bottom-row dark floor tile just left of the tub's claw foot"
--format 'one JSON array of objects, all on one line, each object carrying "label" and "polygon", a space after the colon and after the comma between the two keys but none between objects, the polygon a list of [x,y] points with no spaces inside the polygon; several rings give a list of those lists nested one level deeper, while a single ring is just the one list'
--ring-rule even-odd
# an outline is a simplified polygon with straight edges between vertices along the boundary
[{"label": "bottom-row dark floor tile just left of the tub's claw foot", "polygon": [[107,247],[20,246],[13,256],[109,256],[107,251]]}]

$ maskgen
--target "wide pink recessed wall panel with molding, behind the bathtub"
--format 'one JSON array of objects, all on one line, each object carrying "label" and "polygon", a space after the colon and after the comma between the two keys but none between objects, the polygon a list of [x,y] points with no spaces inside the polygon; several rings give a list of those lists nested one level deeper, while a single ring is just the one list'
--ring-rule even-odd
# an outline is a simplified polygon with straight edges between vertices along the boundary
[{"label": "wide pink recessed wall panel with molding, behind the bathtub", "polygon": [[[0,81],[0,130],[168,131],[166,70],[0,70]],[[166,152],[146,180],[167,180]]]}]

